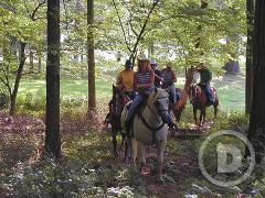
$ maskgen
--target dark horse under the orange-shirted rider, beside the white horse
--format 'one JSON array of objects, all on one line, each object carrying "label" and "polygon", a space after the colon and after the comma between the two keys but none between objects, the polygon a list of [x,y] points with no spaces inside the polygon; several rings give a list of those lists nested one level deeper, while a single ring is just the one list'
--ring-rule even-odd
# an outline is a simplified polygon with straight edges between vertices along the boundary
[{"label": "dark horse under the orange-shirted rider, beside the white horse", "polygon": [[117,134],[121,134],[121,144],[119,151],[126,143],[125,158],[127,155],[127,142],[125,142],[126,133],[121,131],[120,117],[125,105],[129,101],[129,97],[117,86],[113,85],[113,99],[110,101],[110,112],[109,112],[109,122],[112,124],[112,136],[113,136],[113,146],[114,155],[118,156],[117,152]]}]

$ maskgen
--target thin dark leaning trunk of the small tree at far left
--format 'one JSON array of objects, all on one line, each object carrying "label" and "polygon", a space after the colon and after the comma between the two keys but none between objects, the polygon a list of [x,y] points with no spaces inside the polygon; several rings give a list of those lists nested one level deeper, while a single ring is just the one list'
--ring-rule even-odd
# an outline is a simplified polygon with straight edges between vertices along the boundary
[{"label": "thin dark leaning trunk of the small tree at far left", "polygon": [[15,111],[15,101],[17,101],[17,96],[18,96],[18,91],[19,91],[19,84],[20,84],[20,79],[22,76],[22,72],[24,68],[24,63],[25,63],[25,43],[21,42],[20,45],[20,64],[19,64],[19,68],[17,72],[17,76],[15,76],[15,80],[14,80],[14,88],[10,98],[10,114],[13,116],[14,111]]}]

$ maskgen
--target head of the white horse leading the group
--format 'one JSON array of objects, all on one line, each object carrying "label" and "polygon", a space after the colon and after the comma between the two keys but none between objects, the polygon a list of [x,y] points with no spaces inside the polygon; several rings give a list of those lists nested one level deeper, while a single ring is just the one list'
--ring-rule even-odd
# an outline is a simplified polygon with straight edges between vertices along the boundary
[{"label": "head of the white horse leading the group", "polygon": [[163,122],[169,118],[169,94],[165,89],[156,89],[149,98],[148,106],[161,117]]}]

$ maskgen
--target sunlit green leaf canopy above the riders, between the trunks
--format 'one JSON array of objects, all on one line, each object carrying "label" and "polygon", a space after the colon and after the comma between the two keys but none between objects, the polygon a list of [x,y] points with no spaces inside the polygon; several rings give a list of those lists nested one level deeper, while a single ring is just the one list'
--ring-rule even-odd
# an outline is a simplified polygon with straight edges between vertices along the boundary
[{"label": "sunlit green leaf canopy above the riders, between the trunks", "polygon": [[[115,54],[120,52],[121,56],[127,58],[130,55],[128,48],[134,47],[152,2],[96,1],[94,26],[96,50]],[[86,2],[67,1],[65,8],[62,21],[63,34],[67,36],[63,46],[72,51],[67,52],[72,57],[73,54],[85,54]],[[200,1],[194,0],[160,1],[147,23],[138,45],[138,54],[153,45],[152,58],[160,63],[173,59],[176,67],[183,68],[198,62],[206,62],[209,66],[216,67],[231,57],[230,53],[236,57],[244,55],[245,35],[244,0],[236,2],[226,0],[219,3],[211,1],[206,9],[201,9]],[[199,38],[200,45],[195,47]],[[220,40],[225,38],[230,40],[227,44],[220,43]],[[98,58],[98,65],[102,65],[100,62],[103,58]],[[85,64],[83,66],[85,68]],[[78,72],[78,67],[75,70]]]}]

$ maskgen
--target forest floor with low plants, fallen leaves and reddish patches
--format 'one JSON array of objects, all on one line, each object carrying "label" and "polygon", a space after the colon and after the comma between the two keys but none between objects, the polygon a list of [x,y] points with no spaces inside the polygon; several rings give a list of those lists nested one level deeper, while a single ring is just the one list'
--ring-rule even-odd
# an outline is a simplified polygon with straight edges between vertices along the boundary
[{"label": "forest floor with low plants, fallen leaves and reddish patches", "polygon": [[[189,113],[184,117],[187,119]],[[55,162],[49,157],[39,158],[44,132],[42,119],[29,116],[10,118],[6,113],[0,118],[0,196],[193,198],[250,195],[245,191],[247,183],[222,188],[209,183],[201,174],[198,152],[206,133],[211,132],[210,128],[208,132],[184,128],[177,138],[169,138],[165,152],[165,184],[161,184],[156,177],[156,148],[147,151],[144,175],[136,174],[120,157],[114,157],[110,132],[100,127],[100,120],[93,124],[97,128],[91,128],[84,117],[78,116],[76,122],[63,116],[64,157]],[[246,125],[241,117],[232,117],[232,120],[222,122],[230,127],[236,122],[237,129]],[[214,128],[218,125],[215,123]],[[255,195],[261,194],[256,191]]]}]

